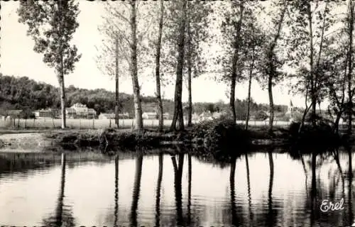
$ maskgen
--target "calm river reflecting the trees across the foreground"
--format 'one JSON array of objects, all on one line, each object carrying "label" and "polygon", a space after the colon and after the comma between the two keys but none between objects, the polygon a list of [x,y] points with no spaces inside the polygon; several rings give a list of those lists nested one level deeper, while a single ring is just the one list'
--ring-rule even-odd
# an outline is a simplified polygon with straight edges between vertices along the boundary
[{"label": "calm river reflecting the trees across the foreground", "polygon": [[0,153],[0,226],[351,226],[354,159],[334,154]]}]

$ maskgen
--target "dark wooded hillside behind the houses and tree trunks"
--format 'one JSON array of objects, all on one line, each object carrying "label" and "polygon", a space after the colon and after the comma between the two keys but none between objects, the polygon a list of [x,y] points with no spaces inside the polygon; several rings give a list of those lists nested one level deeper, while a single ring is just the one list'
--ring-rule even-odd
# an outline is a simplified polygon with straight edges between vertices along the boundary
[{"label": "dark wooded hillside behind the houses and tree trunks", "polygon": [[[43,82],[35,82],[28,77],[6,76],[0,73],[0,108],[1,109],[47,109],[60,108],[59,88]],[[67,106],[75,103],[82,103],[88,108],[95,109],[97,114],[114,111],[114,92],[106,89],[81,89],[74,86],[66,88]],[[120,93],[121,112],[128,112],[133,116],[133,95]],[[193,97],[192,97],[193,99]],[[143,104],[155,103],[155,97],[142,96]],[[222,101],[217,103],[199,102],[194,103],[194,112],[201,114],[203,111],[216,111],[217,109],[227,109],[228,105]],[[237,118],[246,115],[246,100],[236,99]],[[187,106],[187,105],[185,105]],[[165,112],[173,114],[173,100],[164,99],[163,109]],[[268,111],[267,104],[256,104],[251,101],[251,112]],[[287,106],[275,106],[276,111],[285,112]],[[144,109],[143,112],[149,111]]]}]

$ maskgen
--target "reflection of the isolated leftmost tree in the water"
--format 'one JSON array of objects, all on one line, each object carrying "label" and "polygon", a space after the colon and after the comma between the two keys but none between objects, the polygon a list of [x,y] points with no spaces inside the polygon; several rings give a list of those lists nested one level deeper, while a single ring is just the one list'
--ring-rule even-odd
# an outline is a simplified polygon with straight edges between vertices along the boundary
[{"label": "reflection of the isolated leftmost tree in the water", "polygon": [[71,206],[64,204],[65,192],[65,153],[62,153],[62,174],[60,177],[60,190],[57,200],[57,206],[54,214],[43,220],[44,226],[75,226],[75,218],[72,216]]}]

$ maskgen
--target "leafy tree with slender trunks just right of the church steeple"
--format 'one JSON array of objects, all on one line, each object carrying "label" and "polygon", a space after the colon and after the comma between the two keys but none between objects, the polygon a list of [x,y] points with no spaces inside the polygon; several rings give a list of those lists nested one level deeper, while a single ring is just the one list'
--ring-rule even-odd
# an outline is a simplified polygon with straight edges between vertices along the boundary
[{"label": "leafy tree with slender trunks just right of the church steeple", "polygon": [[[334,25],[334,16],[331,14],[332,7],[337,2],[325,1],[290,1],[290,48],[288,61],[297,67],[297,87],[305,94],[305,112],[300,124],[299,131],[304,125],[307,111],[311,109],[312,125],[317,124],[316,105],[324,97],[321,94],[324,87],[324,74],[322,74],[322,62],[324,51],[329,47],[329,39],[332,35],[325,35]],[[297,87],[293,88],[297,91]],[[310,106],[307,99],[310,98]]]}]

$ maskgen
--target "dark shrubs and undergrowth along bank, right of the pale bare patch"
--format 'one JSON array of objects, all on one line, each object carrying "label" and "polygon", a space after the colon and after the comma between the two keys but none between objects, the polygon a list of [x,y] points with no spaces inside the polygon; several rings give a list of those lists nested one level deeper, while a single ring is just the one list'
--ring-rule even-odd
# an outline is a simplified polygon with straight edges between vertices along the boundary
[{"label": "dark shrubs and undergrowth along bank, right of the pale bare patch", "polygon": [[[299,123],[290,128],[276,130],[274,135],[268,134],[267,128],[239,126],[233,121],[222,118],[197,123],[192,128],[178,133],[157,131],[121,131],[116,129],[91,131],[62,131],[47,133],[46,137],[56,145],[79,148],[102,146],[104,150],[141,150],[142,148],[160,148],[164,145],[182,144],[199,148],[199,153],[216,156],[233,156],[245,153],[260,145],[286,145],[293,148],[327,148],[338,145],[339,136],[332,132],[326,123],[318,123],[317,127],[306,124],[298,133]],[[256,146],[257,144],[257,146]],[[202,148],[202,149],[200,149]]]}]

